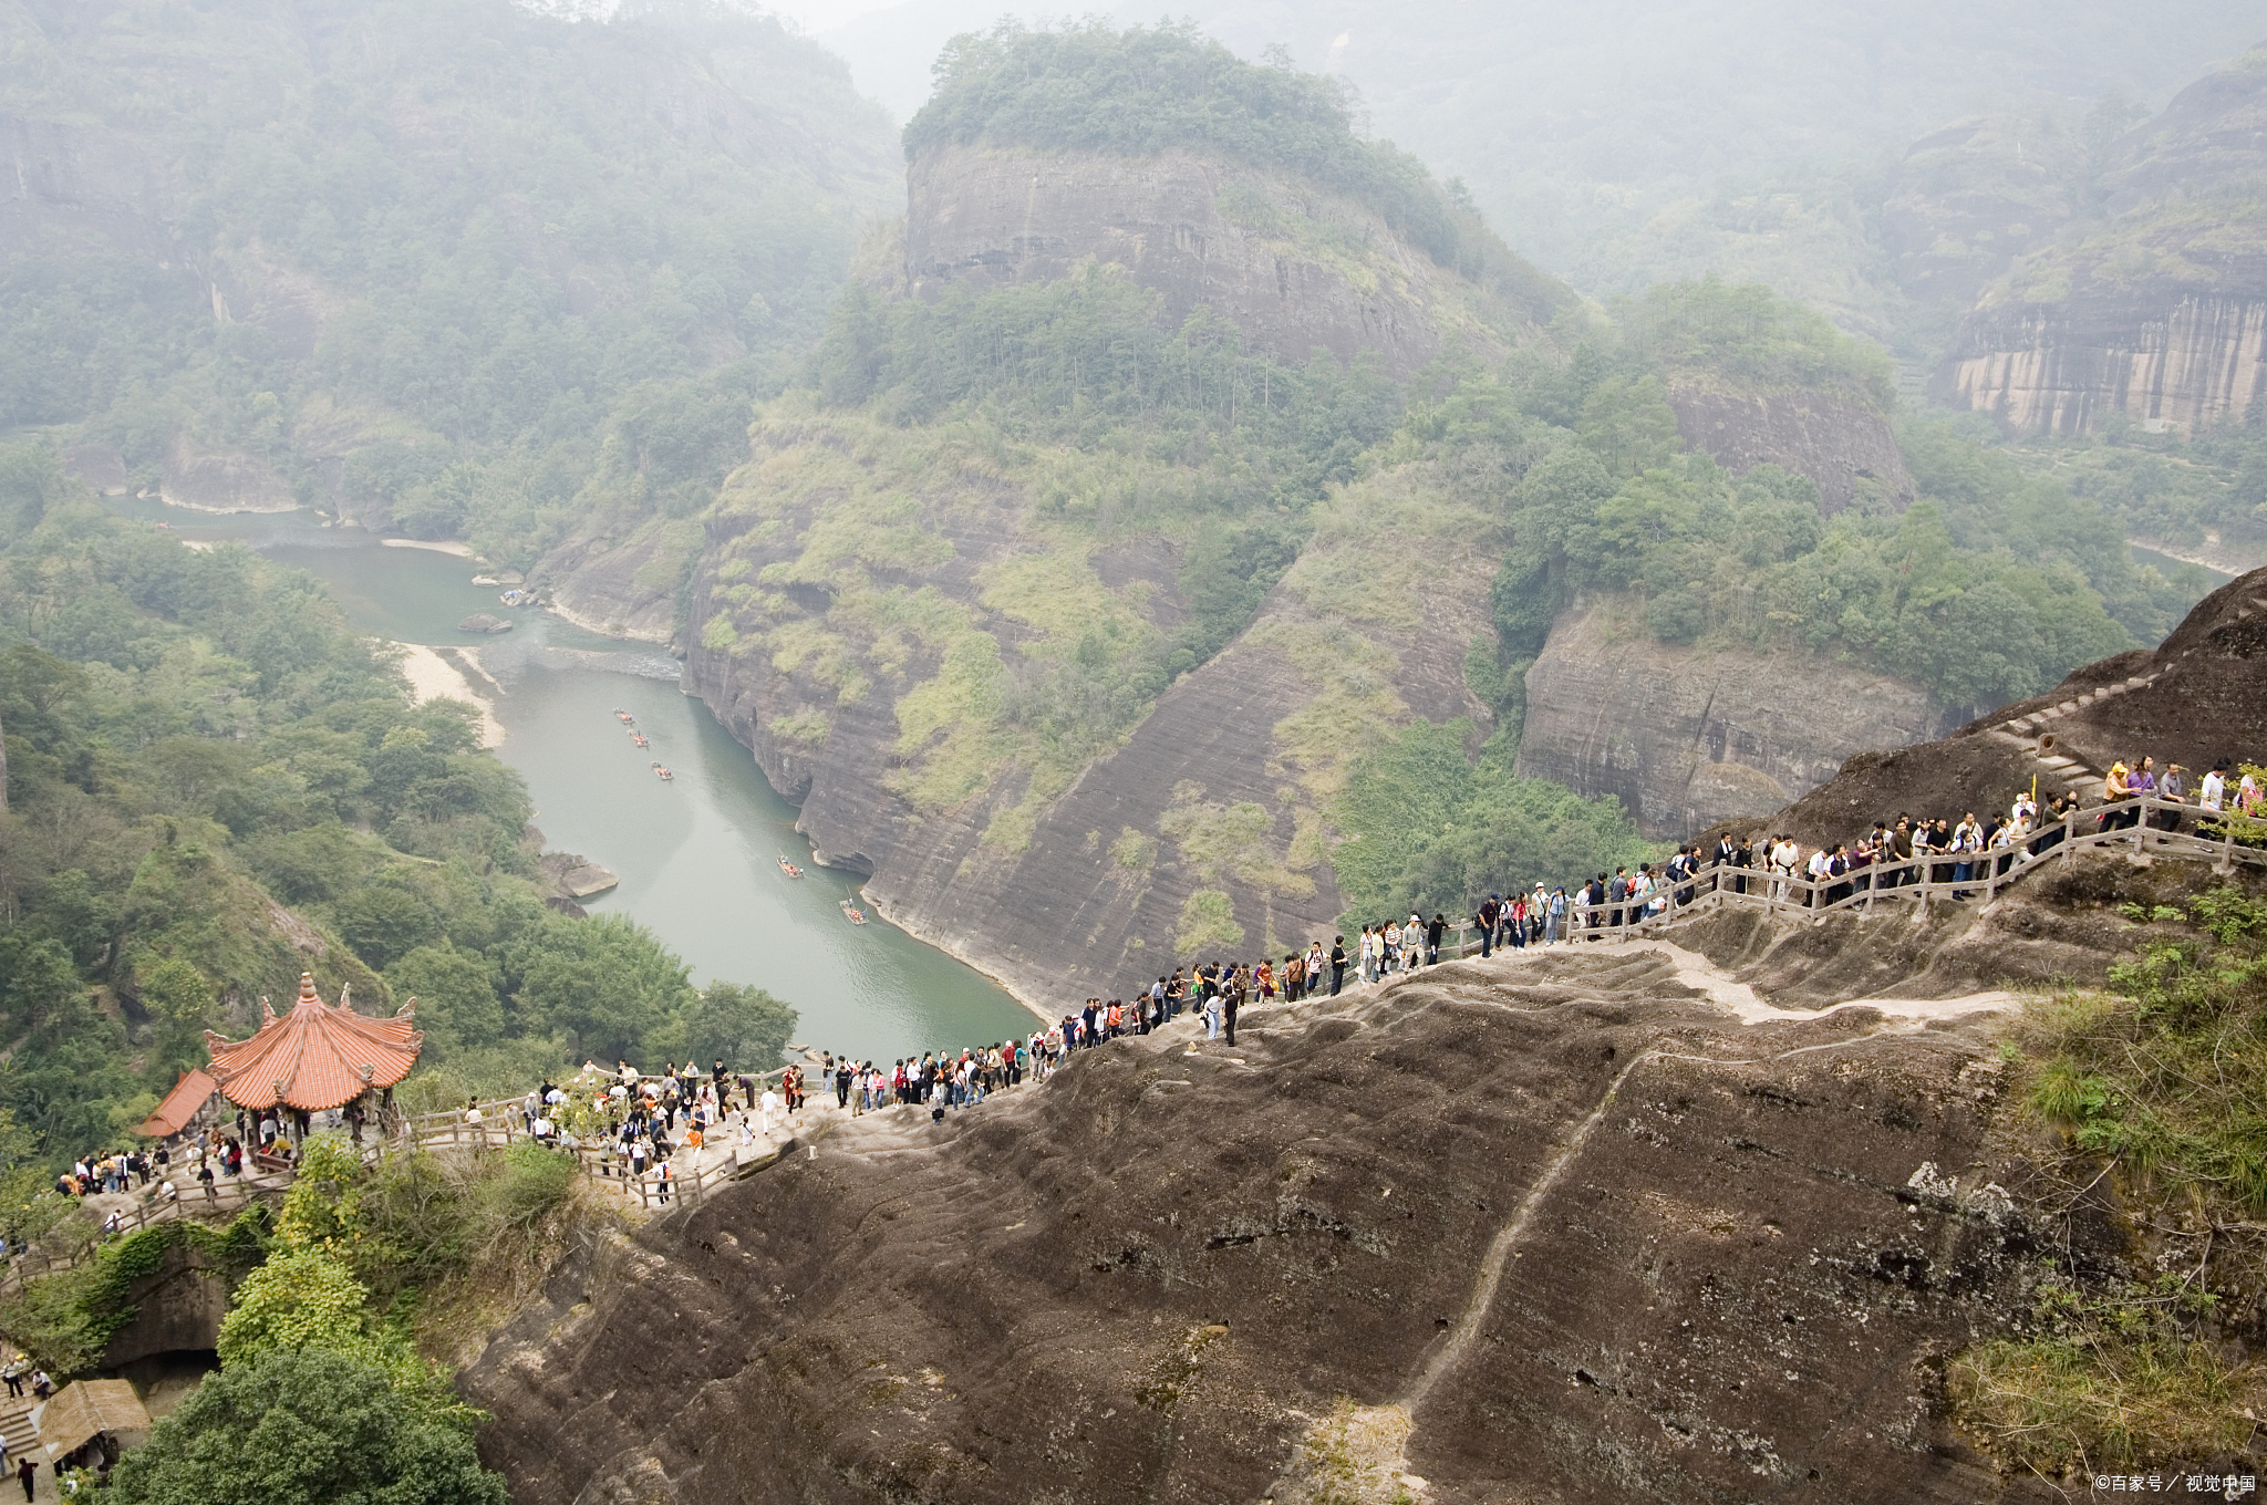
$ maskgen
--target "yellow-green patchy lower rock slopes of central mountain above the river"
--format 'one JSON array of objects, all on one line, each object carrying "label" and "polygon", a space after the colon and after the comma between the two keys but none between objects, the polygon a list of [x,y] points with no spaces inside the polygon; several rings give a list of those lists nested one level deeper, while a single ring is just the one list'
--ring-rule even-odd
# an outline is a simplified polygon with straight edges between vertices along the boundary
[{"label": "yellow-green patchy lower rock slopes of central mountain above the river", "polygon": [[685,689],[803,807],[821,861],[1031,1002],[1328,941],[1347,764],[1410,716],[1487,721],[1462,675],[1492,630],[1485,496],[1437,467],[1324,503],[1238,641],[1070,762],[1047,746],[1065,700],[1138,694],[1075,653],[1181,621],[1179,546],[1065,533],[975,456],[948,483],[929,456],[909,460],[925,483],[857,474],[882,449],[857,419],[757,444],[710,521]]}]

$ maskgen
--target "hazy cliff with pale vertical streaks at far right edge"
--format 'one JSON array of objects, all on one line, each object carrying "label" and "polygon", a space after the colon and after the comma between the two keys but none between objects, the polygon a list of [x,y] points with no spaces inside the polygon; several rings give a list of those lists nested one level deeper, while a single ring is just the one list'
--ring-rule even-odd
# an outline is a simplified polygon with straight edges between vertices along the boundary
[{"label": "hazy cliff with pale vertical streaks at far right edge", "polygon": [[2267,392],[2267,54],[2185,88],[2126,136],[2111,218],[1988,288],[1936,394],[2009,428],[2086,433],[2113,413],[2194,431]]}]

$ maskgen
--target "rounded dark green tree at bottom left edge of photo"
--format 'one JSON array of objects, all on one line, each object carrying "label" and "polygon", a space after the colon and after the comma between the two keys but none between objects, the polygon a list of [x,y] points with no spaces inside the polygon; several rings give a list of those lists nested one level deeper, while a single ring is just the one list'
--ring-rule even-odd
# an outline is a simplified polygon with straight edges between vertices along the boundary
[{"label": "rounded dark green tree at bottom left edge of photo", "polygon": [[120,1505],[506,1505],[469,1428],[438,1421],[385,1364],[274,1351],[224,1364],[120,1460]]}]

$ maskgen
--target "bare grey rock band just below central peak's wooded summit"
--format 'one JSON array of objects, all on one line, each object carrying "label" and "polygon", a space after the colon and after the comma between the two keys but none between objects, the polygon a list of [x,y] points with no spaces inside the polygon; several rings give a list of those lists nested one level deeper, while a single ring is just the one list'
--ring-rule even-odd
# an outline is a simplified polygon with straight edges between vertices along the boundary
[{"label": "bare grey rock band just below central peak's wooded summit", "polygon": [[[1045,283],[1079,263],[1120,265],[1165,295],[1165,315],[1199,304],[1281,360],[1317,349],[1374,351],[1396,376],[1444,338],[1501,351],[1519,329],[1492,329],[1451,272],[1403,245],[1374,211],[1213,156],[1163,152],[1029,152],[941,147],[907,172],[905,277],[918,297],[952,286]],[[1576,299],[1548,288],[1544,324]]]}]

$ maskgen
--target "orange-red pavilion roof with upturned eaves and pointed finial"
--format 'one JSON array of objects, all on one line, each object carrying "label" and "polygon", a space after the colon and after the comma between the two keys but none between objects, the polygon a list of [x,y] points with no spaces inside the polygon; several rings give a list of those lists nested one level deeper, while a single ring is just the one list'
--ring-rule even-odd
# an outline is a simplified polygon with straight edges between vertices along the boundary
[{"label": "orange-red pavilion roof with upturned eaves and pointed finial", "polygon": [[336,1006],[324,1004],[315,997],[315,977],[302,972],[292,1011],[277,1018],[261,1000],[261,1029],[249,1040],[204,1031],[211,1074],[240,1108],[342,1108],[372,1088],[394,1086],[417,1065],[424,1031],[415,1009],[410,1000],[394,1018],[374,1020],[349,1009],[345,990]]}]

